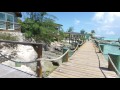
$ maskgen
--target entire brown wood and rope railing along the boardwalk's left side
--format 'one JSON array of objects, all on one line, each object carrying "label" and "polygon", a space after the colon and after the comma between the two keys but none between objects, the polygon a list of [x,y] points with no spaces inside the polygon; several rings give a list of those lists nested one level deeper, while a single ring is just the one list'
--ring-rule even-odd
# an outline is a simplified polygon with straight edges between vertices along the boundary
[{"label": "entire brown wood and rope railing along the boardwalk's left side", "polygon": [[[45,58],[42,58],[42,43],[29,43],[29,42],[17,42],[17,41],[7,41],[7,40],[0,40],[0,42],[4,42],[4,43],[11,43],[11,44],[22,44],[22,45],[30,45],[34,48],[34,50],[37,52],[38,54],[38,57],[36,60],[33,60],[33,61],[29,61],[29,62],[23,62],[23,61],[15,61],[15,60],[12,60],[12,59],[9,59],[8,57],[6,57],[5,55],[2,55],[0,53],[0,55],[2,57],[4,57],[5,59],[7,60],[10,60],[12,62],[15,62],[15,63],[21,63],[21,64],[24,64],[24,63],[35,63],[37,62],[37,68],[36,68],[36,73],[37,73],[37,77],[40,77],[42,78],[42,66],[41,66],[41,61],[44,60],[44,61],[57,61],[59,59],[62,59],[63,57],[65,58],[65,61],[68,61],[68,52],[70,51],[69,49],[63,54],[61,55],[60,57],[58,58],[55,58],[55,59],[45,59]],[[85,42],[82,42],[81,44],[77,44],[76,48],[74,50],[71,50],[72,52],[75,52],[76,50],[78,50],[78,46],[79,45],[83,45]]]}]

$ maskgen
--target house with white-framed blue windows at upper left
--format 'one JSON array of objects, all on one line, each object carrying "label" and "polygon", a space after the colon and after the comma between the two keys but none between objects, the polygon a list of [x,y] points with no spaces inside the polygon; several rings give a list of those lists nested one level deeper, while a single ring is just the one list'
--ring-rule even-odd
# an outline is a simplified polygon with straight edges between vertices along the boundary
[{"label": "house with white-framed blue windows at upper left", "polygon": [[21,31],[18,17],[22,17],[21,12],[0,12],[0,31]]}]

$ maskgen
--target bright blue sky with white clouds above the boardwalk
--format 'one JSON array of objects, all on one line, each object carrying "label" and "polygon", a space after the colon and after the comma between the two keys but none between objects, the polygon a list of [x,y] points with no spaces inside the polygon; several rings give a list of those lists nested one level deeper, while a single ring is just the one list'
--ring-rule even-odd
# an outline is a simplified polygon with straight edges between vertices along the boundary
[{"label": "bright blue sky with white clouds above the boardwalk", "polygon": [[[95,30],[96,36],[120,37],[120,12],[47,12],[57,17],[56,23],[62,24],[64,31],[69,27],[74,32],[84,29]],[[25,17],[23,15],[22,19]]]}]

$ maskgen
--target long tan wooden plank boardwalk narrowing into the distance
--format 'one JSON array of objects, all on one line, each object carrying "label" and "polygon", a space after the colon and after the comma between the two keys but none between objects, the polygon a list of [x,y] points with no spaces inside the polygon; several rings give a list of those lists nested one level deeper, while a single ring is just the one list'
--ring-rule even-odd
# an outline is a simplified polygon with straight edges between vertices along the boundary
[{"label": "long tan wooden plank boardwalk narrowing into the distance", "polygon": [[108,70],[108,62],[92,41],[87,41],[48,78],[117,78]]}]

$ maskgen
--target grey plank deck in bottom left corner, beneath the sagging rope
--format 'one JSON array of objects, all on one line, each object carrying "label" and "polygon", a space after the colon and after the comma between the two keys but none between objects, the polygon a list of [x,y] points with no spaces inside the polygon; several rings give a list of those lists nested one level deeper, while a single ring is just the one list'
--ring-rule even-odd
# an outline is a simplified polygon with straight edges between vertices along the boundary
[{"label": "grey plank deck in bottom left corner, beneath the sagging rope", "polygon": [[36,78],[36,76],[0,64],[0,78]]}]

